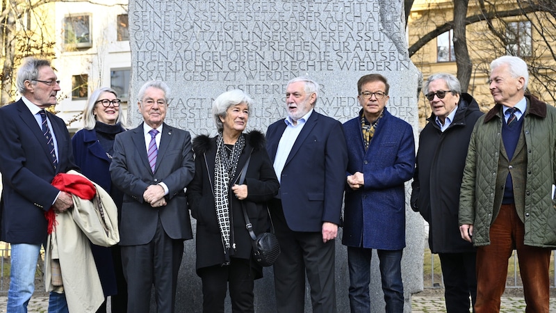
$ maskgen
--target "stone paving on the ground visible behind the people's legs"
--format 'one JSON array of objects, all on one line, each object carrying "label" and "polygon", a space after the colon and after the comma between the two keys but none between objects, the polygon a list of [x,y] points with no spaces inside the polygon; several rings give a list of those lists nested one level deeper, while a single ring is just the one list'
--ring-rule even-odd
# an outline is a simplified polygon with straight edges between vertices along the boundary
[{"label": "stone paving on the ground visible behind the people's legs", "polygon": [[[6,312],[6,296],[0,296],[0,312]],[[443,297],[411,297],[411,310],[413,313],[440,313],[446,312]],[[48,297],[31,298],[27,306],[28,313],[47,313]],[[523,298],[502,298],[500,312],[525,312]],[[556,298],[550,298],[550,312],[556,312]]]}]

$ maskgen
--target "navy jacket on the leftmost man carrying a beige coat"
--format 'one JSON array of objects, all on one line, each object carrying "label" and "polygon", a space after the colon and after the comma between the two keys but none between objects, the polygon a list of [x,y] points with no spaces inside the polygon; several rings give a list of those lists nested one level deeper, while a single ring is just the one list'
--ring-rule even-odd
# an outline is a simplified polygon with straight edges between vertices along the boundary
[{"label": "navy jacket on the leftmost man carrying a beige coat", "polygon": [[47,239],[47,211],[59,190],[51,186],[59,172],[77,169],[65,122],[47,111],[58,141],[58,166],[51,161],[47,140],[22,99],[0,108],[0,172],[2,173],[1,240],[40,244]]}]

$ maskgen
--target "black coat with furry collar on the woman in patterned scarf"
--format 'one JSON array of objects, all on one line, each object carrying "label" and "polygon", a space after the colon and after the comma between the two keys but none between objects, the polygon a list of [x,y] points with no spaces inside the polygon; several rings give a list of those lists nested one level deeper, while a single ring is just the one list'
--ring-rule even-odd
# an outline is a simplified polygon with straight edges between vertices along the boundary
[{"label": "black coat with furry collar on the woman in patterned scarf", "polygon": [[[245,228],[242,202],[253,224],[255,234],[268,230],[268,210],[266,201],[274,197],[279,188],[272,163],[265,150],[265,138],[259,131],[245,134],[245,147],[240,155],[236,174],[232,182],[237,182],[241,169],[251,154],[245,182],[247,198],[243,201],[234,197],[229,189],[228,203],[231,210],[231,229],[234,232],[236,250],[232,257],[250,259],[252,239]],[[187,189],[191,215],[197,219],[196,252],[197,270],[208,266],[223,264],[224,247],[216,218],[213,197],[213,181],[216,157],[216,137],[198,136],[193,140],[195,151],[195,177]],[[260,272],[261,268],[259,268]]]}]

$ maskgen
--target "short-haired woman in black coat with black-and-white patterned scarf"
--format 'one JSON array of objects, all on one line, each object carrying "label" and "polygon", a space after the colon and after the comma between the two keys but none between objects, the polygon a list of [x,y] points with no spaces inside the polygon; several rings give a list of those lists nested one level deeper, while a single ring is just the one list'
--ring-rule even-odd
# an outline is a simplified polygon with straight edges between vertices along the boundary
[{"label": "short-haired woman in black coat with black-and-white patterned scarf", "polygon": [[224,312],[228,285],[232,312],[254,312],[254,279],[263,275],[252,258],[243,209],[255,234],[265,232],[266,201],[277,194],[279,182],[264,135],[244,133],[252,105],[242,90],[222,93],[213,102],[218,134],[193,140],[195,177],[187,195],[197,219],[196,268],[203,285],[203,312]]}]

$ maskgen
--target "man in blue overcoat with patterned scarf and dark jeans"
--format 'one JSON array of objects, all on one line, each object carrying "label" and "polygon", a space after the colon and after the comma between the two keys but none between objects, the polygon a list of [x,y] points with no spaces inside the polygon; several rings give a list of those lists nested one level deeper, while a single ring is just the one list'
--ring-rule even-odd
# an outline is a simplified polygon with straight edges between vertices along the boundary
[{"label": "man in blue overcoat with patterned scarf and dark jeans", "polygon": [[380,74],[361,77],[357,99],[362,109],[343,125],[349,161],[342,243],[347,246],[352,312],[370,312],[373,249],[380,260],[384,312],[404,310],[404,183],[413,177],[415,143],[411,126],[386,110],[389,89]]}]

